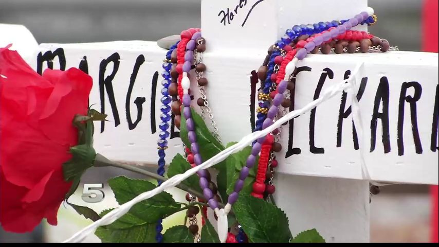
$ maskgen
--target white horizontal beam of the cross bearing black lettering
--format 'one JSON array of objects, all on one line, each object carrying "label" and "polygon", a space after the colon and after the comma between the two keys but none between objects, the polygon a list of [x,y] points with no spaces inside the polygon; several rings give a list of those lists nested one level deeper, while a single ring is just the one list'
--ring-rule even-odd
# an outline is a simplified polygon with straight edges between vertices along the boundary
[{"label": "white horizontal beam of the cross bearing black lettering", "polygon": [[[157,159],[155,142],[158,139],[160,123],[160,76],[157,78],[155,98],[152,99],[151,93],[155,83],[154,75],[156,72],[161,73],[164,51],[153,42],[141,41],[40,46],[43,55],[47,50],[55,51],[59,48],[63,49],[66,67],[79,66],[84,56],[86,57],[88,72],[94,78],[90,103],[96,104],[96,108],[101,111],[102,105],[105,105],[105,113],[109,114],[110,122],[105,123],[102,133],[97,131],[95,135],[97,150],[115,160],[155,163]],[[206,77],[210,81],[207,88],[208,99],[225,143],[239,140],[251,132],[249,107],[251,72],[258,68],[263,54],[264,51],[238,55],[236,52],[225,50],[205,54],[204,61],[208,66]],[[135,99],[144,97],[145,102],[142,104],[141,120],[134,129],[130,130],[126,117],[127,92],[134,64],[141,55],[145,62],[140,66],[129,99],[132,122],[137,119]],[[108,63],[105,72],[100,66],[103,60],[111,56],[120,58],[119,68],[112,82],[116,107],[111,107],[107,91],[104,94],[105,100],[102,101],[104,104],[99,96],[99,81],[103,82],[104,78],[112,73],[113,63]],[[59,67],[57,59],[54,60],[55,67]],[[31,61],[35,68],[36,60],[35,56]],[[360,100],[365,133],[363,139],[359,140],[359,145],[365,147],[363,155],[370,179],[437,184],[438,152],[430,149],[438,81],[437,61],[437,54],[403,51],[386,54],[310,55],[298,64],[300,67],[309,67],[312,72],[302,72],[297,77],[295,107],[299,109],[313,101],[318,84],[323,83],[320,90],[325,90],[331,85],[342,82],[347,70],[352,70],[356,64],[364,62],[365,67],[359,77],[368,78]],[[46,63],[43,67],[45,66]],[[99,78],[100,73],[104,73],[105,77]],[[333,79],[325,78],[328,73],[333,75]],[[324,80],[321,80],[322,77]],[[420,136],[420,144],[417,146],[411,129],[410,104],[404,103],[405,111],[401,112],[399,102],[401,86],[405,82],[412,81],[418,82],[422,87],[422,95],[416,103],[415,114]],[[387,139],[382,138],[381,120],[377,119],[376,130],[371,128],[371,120],[377,95],[380,95],[385,88],[383,86],[387,85],[389,86],[389,143],[384,145]],[[198,98],[196,86],[192,89],[195,98]],[[412,87],[407,90],[407,95],[413,95]],[[293,132],[288,132],[289,126],[284,127],[281,138],[283,151],[279,156],[286,158],[279,158],[278,172],[316,177],[367,179],[362,174],[364,169],[361,166],[360,151],[354,146],[352,115],[342,119],[343,126],[339,128],[341,98],[342,94],[317,107],[314,126],[310,124],[312,119],[310,113],[307,113],[295,119]],[[349,107],[350,101],[346,100],[345,111]],[[379,107],[378,112],[381,113],[382,102],[379,98],[376,107]],[[118,117],[115,118],[116,109]],[[154,114],[151,114],[152,109],[155,111]],[[400,114],[404,116],[404,121],[398,121]],[[398,124],[401,123],[403,127],[399,127],[399,130],[403,142],[398,136]],[[155,133],[153,133],[154,125]],[[97,123],[96,128],[102,130],[101,123]],[[314,131],[314,136],[310,130]],[[371,152],[372,134],[376,134],[376,139],[373,142],[375,148]],[[310,139],[313,138],[314,146],[310,145]],[[337,147],[338,145],[340,147]],[[172,139],[169,146],[167,152],[170,157],[182,150],[178,138]],[[417,153],[419,150],[416,148],[419,147],[422,147],[422,153]],[[402,148],[404,154],[400,155]],[[297,154],[298,149],[300,154]]]}]

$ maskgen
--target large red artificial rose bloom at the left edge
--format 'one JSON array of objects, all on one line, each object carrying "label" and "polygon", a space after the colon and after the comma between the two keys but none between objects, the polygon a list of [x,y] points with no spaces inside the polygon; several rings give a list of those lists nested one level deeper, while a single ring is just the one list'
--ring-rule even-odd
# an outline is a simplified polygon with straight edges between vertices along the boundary
[{"label": "large red artificial rose bloom at the left edge", "polygon": [[0,223],[29,232],[43,218],[57,224],[71,182],[62,164],[71,158],[76,114],[87,115],[92,78],[77,68],[37,74],[16,51],[0,48]]}]

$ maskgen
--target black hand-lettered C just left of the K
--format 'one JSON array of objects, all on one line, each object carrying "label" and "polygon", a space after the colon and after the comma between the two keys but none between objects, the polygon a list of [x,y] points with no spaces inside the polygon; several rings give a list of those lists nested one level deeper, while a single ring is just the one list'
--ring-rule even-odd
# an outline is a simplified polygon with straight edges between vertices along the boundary
[{"label": "black hand-lettered C just left of the K", "polygon": [[[320,97],[320,93],[322,92],[326,78],[334,79],[334,72],[330,68],[323,69],[319,83],[317,83],[316,91],[314,92],[314,100]],[[317,107],[311,110],[311,116],[309,117],[309,151],[312,153],[321,154],[325,153],[325,149],[317,148],[315,146],[316,112]]]}]

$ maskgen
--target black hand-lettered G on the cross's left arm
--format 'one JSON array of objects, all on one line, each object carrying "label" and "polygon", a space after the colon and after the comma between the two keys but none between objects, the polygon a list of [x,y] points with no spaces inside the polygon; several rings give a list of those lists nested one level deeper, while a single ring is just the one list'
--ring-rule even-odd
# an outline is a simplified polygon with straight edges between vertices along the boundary
[{"label": "black hand-lettered G on the cross's left arm", "polygon": [[[137,126],[137,124],[142,120],[142,104],[146,101],[144,97],[137,97],[134,100],[134,103],[137,107],[137,119],[136,121],[132,121],[131,119],[131,109],[130,109],[130,101],[131,101],[131,94],[133,93],[133,87],[134,83],[136,82],[137,74],[139,73],[140,66],[145,62],[145,57],[143,55],[140,55],[136,59],[136,63],[134,64],[133,68],[133,74],[131,74],[130,78],[130,85],[128,86],[128,92],[126,94],[126,101],[125,101],[125,111],[126,111],[126,121],[128,122],[128,129],[134,130]],[[157,72],[156,72],[157,74]],[[154,75],[155,76],[155,75]],[[157,85],[157,84],[156,84]],[[155,92],[155,91],[153,91]],[[154,102],[152,101],[151,104]],[[154,133],[153,133],[154,134]]]}]

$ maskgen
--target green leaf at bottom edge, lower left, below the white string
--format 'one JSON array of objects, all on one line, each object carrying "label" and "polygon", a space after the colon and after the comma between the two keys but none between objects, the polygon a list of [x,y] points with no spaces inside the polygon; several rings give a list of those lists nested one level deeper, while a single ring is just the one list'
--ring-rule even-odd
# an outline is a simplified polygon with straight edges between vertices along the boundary
[{"label": "green leaf at bottom edge, lower left, below the white string", "polygon": [[[113,209],[103,211],[103,217]],[[145,223],[141,219],[127,213],[117,221],[106,226],[100,226],[95,235],[103,243],[154,243],[156,223]]]}]

